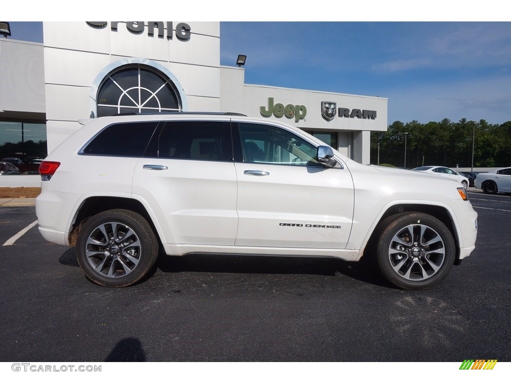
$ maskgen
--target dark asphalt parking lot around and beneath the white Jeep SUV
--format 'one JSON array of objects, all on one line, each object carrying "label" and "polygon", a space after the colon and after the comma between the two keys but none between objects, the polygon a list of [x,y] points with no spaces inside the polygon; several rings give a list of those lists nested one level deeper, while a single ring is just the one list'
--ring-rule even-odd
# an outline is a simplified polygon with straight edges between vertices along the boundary
[{"label": "dark asphalt parking lot around and beneath the white Jeep SUV", "polygon": [[[511,361],[511,197],[470,192],[476,250],[426,291],[353,262],[161,256],[124,289],[92,284],[37,225],[0,246],[0,361]],[[0,209],[0,243],[36,220]]]}]

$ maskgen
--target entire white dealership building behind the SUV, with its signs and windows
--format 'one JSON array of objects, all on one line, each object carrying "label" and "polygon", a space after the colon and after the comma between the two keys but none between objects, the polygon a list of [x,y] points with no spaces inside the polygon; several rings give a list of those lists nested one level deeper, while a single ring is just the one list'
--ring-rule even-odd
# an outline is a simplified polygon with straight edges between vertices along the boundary
[{"label": "entire white dealership building behind the SUV, with its signs and windows", "polygon": [[128,112],[238,112],[286,122],[363,164],[370,132],[387,130],[386,98],[245,84],[236,57],[220,65],[220,22],[42,25],[42,44],[0,38],[3,157],[13,148],[20,157],[44,156],[80,119]]}]

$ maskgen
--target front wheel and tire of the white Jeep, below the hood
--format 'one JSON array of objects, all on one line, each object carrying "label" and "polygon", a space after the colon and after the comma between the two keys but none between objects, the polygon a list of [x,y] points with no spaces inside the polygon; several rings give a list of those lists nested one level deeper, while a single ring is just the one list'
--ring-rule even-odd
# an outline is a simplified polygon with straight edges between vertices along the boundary
[{"label": "front wheel and tire of the white Jeep, below the hood", "polygon": [[381,222],[377,230],[378,266],[394,286],[425,290],[449,274],[456,245],[440,220],[417,211],[399,213]]}]

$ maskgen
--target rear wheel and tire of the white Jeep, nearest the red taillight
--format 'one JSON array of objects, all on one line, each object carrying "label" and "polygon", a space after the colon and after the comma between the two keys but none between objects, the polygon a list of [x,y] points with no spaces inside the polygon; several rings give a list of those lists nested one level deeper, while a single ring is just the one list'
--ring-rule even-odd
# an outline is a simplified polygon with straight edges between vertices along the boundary
[{"label": "rear wheel and tire of the white Jeep, nearest the red taillight", "polygon": [[83,224],[76,253],[89,280],[102,286],[125,287],[141,280],[155,265],[158,241],[140,214],[107,210]]}]

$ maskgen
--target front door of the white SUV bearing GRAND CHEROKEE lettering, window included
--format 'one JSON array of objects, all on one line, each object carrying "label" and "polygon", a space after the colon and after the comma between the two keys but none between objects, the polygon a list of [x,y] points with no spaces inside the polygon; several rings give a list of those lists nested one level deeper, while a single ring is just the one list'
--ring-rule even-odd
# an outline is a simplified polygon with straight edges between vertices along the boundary
[{"label": "front door of the white SUV bearing GRAND CHEROKEE lettering, window included", "polygon": [[323,167],[317,145],[282,127],[238,123],[233,132],[236,246],[344,249],[354,207],[347,168]]}]

